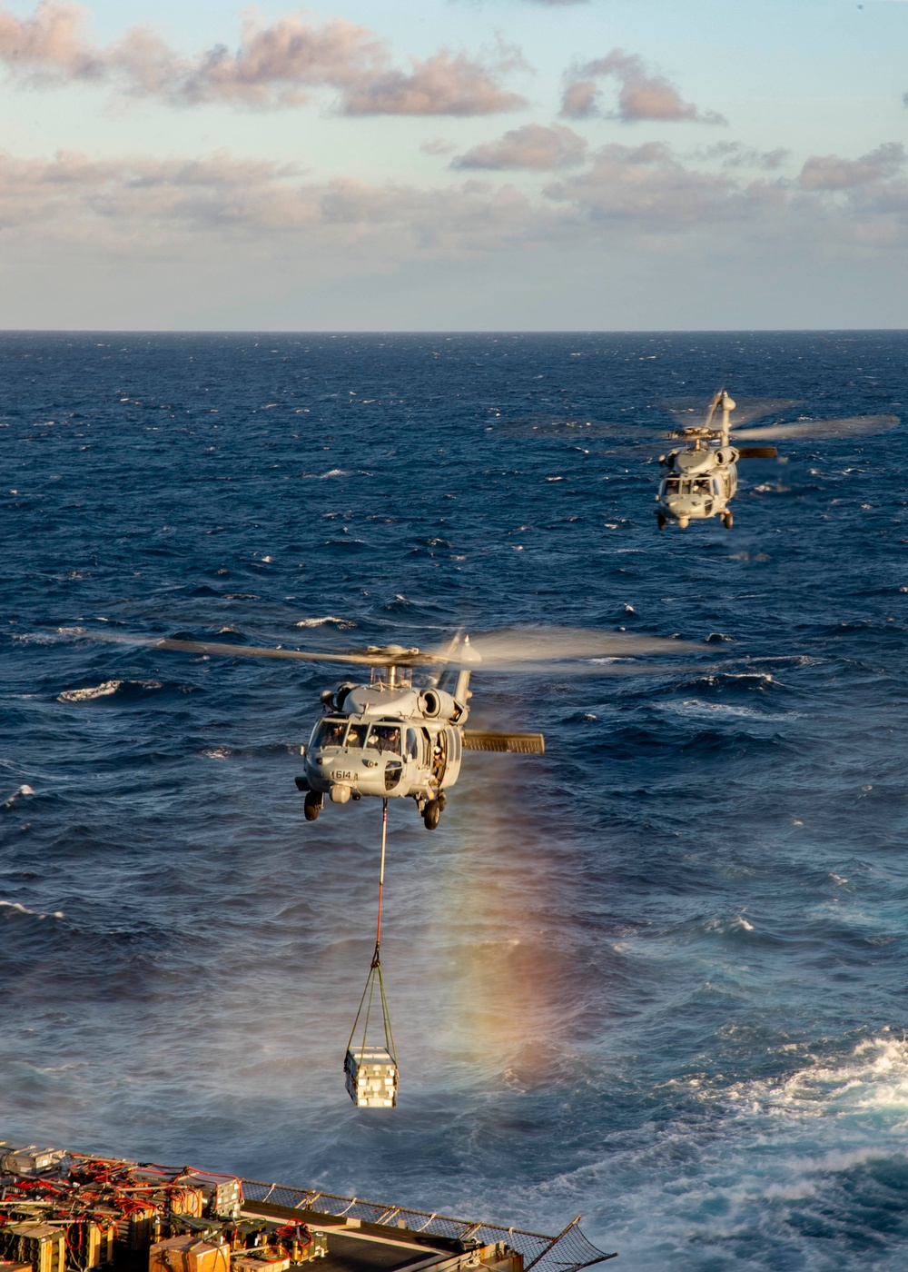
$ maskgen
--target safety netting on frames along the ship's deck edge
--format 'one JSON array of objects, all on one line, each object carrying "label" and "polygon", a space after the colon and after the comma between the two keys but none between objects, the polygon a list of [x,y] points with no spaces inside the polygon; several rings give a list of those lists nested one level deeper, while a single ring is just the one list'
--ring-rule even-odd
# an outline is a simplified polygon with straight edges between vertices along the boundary
[{"label": "safety netting on frames along the ship's deck edge", "polygon": [[267,1201],[275,1206],[312,1210],[334,1217],[359,1219],[366,1224],[385,1224],[389,1227],[402,1227],[430,1236],[476,1240],[481,1245],[506,1241],[512,1250],[523,1254],[524,1272],[529,1272],[530,1267],[535,1272],[579,1272],[580,1268],[614,1258],[614,1254],[605,1254],[584,1236],[579,1226],[580,1216],[556,1236],[547,1236],[544,1233],[528,1233],[520,1227],[451,1219],[449,1215],[430,1215],[429,1211],[408,1206],[383,1206],[380,1202],[362,1201],[360,1197],[341,1197],[314,1188],[268,1184],[258,1179],[243,1180],[243,1197],[248,1201]]}]

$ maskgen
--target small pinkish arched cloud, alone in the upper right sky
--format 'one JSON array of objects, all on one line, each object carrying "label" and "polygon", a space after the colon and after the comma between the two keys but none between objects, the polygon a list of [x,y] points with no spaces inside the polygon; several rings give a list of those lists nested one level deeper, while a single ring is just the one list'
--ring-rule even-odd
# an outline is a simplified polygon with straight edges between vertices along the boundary
[{"label": "small pinkish arched cloud, alone in the upper right sky", "polygon": [[647,73],[641,57],[624,53],[621,48],[613,48],[607,57],[576,66],[568,73],[561,113],[570,120],[602,113],[596,80],[607,76],[613,76],[621,84],[618,107],[612,117],[623,123],[636,123],[640,120],[727,122],[713,111],[702,112],[693,103],[684,102],[675,85],[665,76]]}]

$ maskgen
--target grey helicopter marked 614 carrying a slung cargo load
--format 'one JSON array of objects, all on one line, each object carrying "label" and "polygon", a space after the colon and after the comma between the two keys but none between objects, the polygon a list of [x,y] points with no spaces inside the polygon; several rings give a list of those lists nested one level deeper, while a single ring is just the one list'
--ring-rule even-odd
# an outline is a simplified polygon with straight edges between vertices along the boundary
[{"label": "grey helicopter marked 614 carrying a slung cargo load", "polygon": [[[558,627],[507,628],[479,636],[474,642],[458,632],[436,650],[369,645],[365,650],[345,654],[155,640],[113,632],[92,635],[106,641],[206,656],[292,659],[368,668],[368,683],[342,681],[336,689],[324,689],[320,696],[322,716],[309,742],[300,747],[304,772],[295,778],[298,790],[305,795],[305,819],[317,820],[326,806],[326,796],[332,804],[347,804],[364,795],[385,801],[411,798],[429,831],[439,824],[465,750],[542,756],[546,749],[540,733],[465,728],[473,696],[469,681],[477,668],[499,673],[664,674],[678,667],[624,660],[635,655],[702,649],[696,642],[677,639]],[[422,684],[413,683],[417,669],[425,670]],[[443,687],[443,679],[451,677],[453,682]]]}]

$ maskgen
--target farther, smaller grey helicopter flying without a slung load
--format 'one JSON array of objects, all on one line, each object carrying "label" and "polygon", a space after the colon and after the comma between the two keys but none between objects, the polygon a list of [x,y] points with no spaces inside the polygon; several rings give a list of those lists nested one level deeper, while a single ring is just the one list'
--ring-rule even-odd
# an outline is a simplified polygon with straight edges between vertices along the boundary
[{"label": "farther, smaller grey helicopter flying without a slung load", "polygon": [[[663,474],[656,497],[656,524],[664,530],[669,522],[675,522],[680,529],[691,522],[705,522],[720,516],[726,529],[731,529],[734,518],[729,504],[738,490],[739,459],[774,459],[776,446],[740,446],[739,441],[771,441],[781,438],[822,438],[830,434],[862,435],[883,432],[894,427],[899,418],[894,415],[851,416],[844,420],[813,420],[808,424],[777,424],[758,429],[738,429],[731,445],[731,430],[738,424],[758,420],[783,407],[790,402],[750,403],[731,420],[731,412],[738,403],[724,388],[713,394],[703,424],[683,425],[668,432],[666,438],[684,443],[683,448],[660,455]],[[689,412],[691,407],[670,407],[675,417]],[[716,415],[720,413],[719,425]]]}]

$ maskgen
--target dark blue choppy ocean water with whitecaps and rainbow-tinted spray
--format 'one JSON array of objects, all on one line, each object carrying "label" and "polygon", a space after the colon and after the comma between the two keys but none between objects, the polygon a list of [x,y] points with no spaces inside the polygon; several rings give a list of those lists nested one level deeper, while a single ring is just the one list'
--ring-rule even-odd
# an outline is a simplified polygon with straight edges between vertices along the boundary
[{"label": "dark blue choppy ocean water with whitecaps and rainbow-tinted spray", "polygon": [[[657,403],[722,382],[908,415],[908,336],[0,336],[0,1136],[582,1212],[627,1272],[908,1266],[905,426],[660,534]],[[474,678],[547,752],[392,801],[357,1112],[380,806],[292,781],[331,674],[80,632],[540,621],[708,656]]]}]

